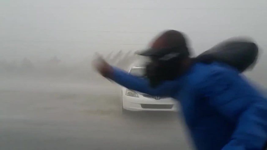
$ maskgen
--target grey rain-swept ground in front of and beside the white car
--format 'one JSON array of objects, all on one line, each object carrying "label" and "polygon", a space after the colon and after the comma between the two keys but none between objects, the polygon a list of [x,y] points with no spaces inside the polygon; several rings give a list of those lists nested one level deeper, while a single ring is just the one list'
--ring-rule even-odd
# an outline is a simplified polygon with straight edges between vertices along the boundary
[{"label": "grey rain-swept ground in front of and beside the white car", "polygon": [[179,114],[124,116],[119,89],[111,83],[3,83],[3,150],[191,149]]}]

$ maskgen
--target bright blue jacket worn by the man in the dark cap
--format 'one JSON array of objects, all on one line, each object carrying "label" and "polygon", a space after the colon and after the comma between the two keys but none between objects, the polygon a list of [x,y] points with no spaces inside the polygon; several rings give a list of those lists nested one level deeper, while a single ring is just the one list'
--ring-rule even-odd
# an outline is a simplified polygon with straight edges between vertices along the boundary
[{"label": "bright blue jacket worn by the man in the dark cap", "polygon": [[157,88],[118,68],[111,79],[132,90],[179,100],[198,150],[262,150],[267,141],[265,97],[227,65],[196,63]]}]

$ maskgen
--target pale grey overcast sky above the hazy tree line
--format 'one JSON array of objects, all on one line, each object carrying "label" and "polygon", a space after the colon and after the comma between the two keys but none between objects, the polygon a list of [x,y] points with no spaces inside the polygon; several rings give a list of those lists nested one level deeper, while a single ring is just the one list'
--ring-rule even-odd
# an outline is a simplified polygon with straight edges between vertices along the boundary
[{"label": "pale grey overcast sky above the hazy tree line", "polygon": [[0,59],[143,49],[159,31],[185,32],[196,53],[237,35],[265,46],[266,0],[2,0]]}]

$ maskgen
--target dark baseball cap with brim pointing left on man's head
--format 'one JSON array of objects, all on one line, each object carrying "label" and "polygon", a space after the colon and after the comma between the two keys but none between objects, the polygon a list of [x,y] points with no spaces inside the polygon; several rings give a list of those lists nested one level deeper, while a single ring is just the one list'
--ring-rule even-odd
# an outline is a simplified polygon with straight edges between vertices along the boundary
[{"label": "dark baseball cap with brim pointing left on man's head", "polygon": [[167,30],[161,33],[152,42],[149,49],[136,54],[147,57],[162,57],[169,53],[179,56],[189,56],[187,41],[184,34],[176,30]]}]

